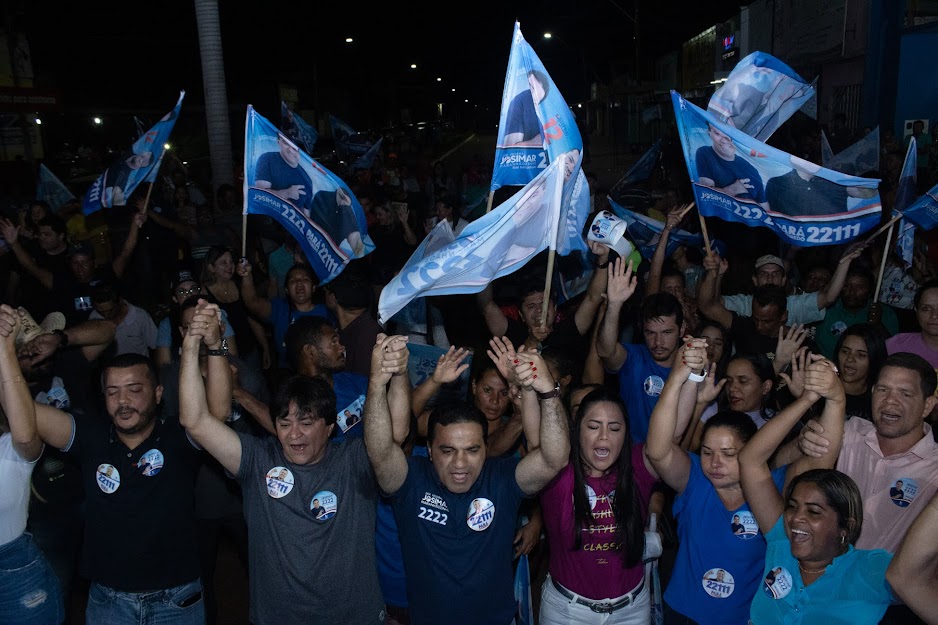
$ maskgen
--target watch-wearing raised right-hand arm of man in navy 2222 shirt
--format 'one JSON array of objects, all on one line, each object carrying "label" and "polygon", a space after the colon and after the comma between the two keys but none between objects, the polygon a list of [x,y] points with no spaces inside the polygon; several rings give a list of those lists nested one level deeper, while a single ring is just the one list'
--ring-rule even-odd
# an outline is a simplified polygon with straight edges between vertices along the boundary
[{"label": "watch-wearing raised right-hand arm of man in navy 2222 shirt", "polygon": [[[540,354],[526,352],[515,365],[521,384],[536,393],[554,390],[554,380]],[[570,459],[570,428],[567,411],[559,395],[541,399],[540,446],[528,453],[515,469],[515,481],[528,495],[533,495],[554,479]]]}]

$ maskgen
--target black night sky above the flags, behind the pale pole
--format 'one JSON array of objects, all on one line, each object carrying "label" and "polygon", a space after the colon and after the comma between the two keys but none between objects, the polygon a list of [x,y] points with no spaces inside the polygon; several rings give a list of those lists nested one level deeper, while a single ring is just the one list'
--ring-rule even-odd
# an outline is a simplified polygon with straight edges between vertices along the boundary
[{"label": "black night sky above the flags, behind the pale pole", "polygon": [[[325,4],[334,6],[322,8]],[[654,58],[727,19],[740,2],[222,0],[229,99],[270,108],[278,103],[276,86],[283,82],[298,86],[307,106],[317,86],[325,92],[375,85],[384,89],[376,97],[436,89],[434,97],[440,99],[444,91],[445,97],[497,107],[518,19],[525,39],[572,103],[585,97],[589,81],[608,79],[613,62],[631,63],[634,25],[625,13],[634,14],[636,4],[642,56]],[[57,87],[67,108],[165,110],[182,88],[187,103],[202,102],[192,0],[10,0],[4,10],[28,33],[40,86]],[[545,30],[557,37],[544,41]],[[344,43],[347,36],[355,43]],[[409,69],[411,62],[416,71]],[[437,76],[443,82],[433,84]],[[456,94],[450,91],[454,87]]]}]

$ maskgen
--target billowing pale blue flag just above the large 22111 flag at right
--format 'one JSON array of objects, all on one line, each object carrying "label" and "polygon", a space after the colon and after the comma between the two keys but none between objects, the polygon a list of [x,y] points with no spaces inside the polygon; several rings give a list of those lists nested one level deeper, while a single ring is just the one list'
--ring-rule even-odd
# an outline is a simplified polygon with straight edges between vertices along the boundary
[{"label": "billowing pale blue flag just above the large 22111 flag at right", "polygon": [[743,58],[716,92],[707,111],[750,137],[767,141],[815,93],[795,71],[771,54]]}]

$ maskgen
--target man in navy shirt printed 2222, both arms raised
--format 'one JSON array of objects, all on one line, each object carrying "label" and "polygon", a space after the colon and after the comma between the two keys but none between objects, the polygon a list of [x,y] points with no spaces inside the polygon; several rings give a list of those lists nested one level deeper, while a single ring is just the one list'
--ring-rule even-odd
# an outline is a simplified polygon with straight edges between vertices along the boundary
[{"label": "man in navy shirt printed 2222, both arms raised", "polygon": [[[383,336],[383,335],[382,335]],[[404,340],[400,337],[397,340]],[[514,618],[512,541],[518,506],[566,466],[567,416],[543,359],[519,353],[523,401],[539,428],[521,460],[486,460],[487,423],[467,404],[441,406],[427,426],[429,457],[407,457],[388,406],[382,344],[375,346],[365,404],[365,445],[378,485],[393,496],[413,625],[508,625]],[[539,445],[538,445],[539,441]]]}]

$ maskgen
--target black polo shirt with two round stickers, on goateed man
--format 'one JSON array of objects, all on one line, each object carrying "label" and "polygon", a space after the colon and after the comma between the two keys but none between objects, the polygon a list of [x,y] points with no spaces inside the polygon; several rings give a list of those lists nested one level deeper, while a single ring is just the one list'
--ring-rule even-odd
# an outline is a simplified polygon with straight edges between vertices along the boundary
[{"label": "black polo shirt with two round stickers, on goateed man", "polygon": [[131,450],[109,420],[76,417],[67,451],[78,458],[86,495],[83,577],[124,592],[199,577],[193,510],[199,451],[182,426],[157,420]]}]

